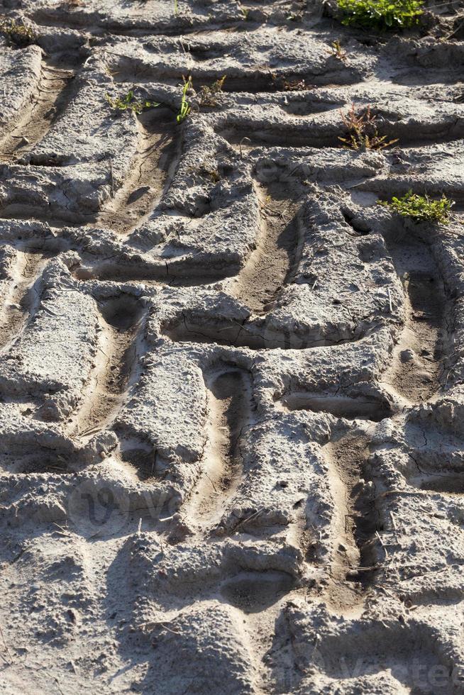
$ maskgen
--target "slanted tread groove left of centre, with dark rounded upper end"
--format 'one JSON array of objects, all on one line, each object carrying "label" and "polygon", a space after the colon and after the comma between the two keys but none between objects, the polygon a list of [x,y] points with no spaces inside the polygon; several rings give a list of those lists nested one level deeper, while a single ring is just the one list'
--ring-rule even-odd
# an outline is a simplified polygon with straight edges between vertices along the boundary
[{"label": "slanted tread groove left of centre, with dark rounded upper end", "polygon": [[123,403],[140,352],[143,309],[128,294],[99,302],[101,331],[94,373],[72,436],[92,438],[108,427]]}]

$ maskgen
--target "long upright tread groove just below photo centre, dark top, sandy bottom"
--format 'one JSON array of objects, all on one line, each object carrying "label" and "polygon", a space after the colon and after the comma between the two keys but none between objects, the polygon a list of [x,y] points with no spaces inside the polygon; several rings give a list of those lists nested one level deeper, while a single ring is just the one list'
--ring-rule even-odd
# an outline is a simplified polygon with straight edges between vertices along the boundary
[{"label": "long upright tread groove just below photo centre, dark top, sandy bottom", "polygon": [[243,475],[241,438],[250,426],[253,397],[251,377],[231,367],[205,377],[208,402],[206,446],[197,486],[183,516],[201,533],[211,533],[236,494]]}]

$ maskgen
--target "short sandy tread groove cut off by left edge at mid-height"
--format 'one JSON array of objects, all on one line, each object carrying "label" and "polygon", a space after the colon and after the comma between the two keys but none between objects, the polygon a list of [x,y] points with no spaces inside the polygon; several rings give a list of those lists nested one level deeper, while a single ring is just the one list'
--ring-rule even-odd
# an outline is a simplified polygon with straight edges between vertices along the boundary
[{"label": "short sandy tread groove cut off by left edge at mid-height", "polygon": [[51,257],[40,251],[16,251],[11,288],[4,296],[0,311],[0,351],[4,352],[19,338],[28,318],[40,301],[38,282]]}]

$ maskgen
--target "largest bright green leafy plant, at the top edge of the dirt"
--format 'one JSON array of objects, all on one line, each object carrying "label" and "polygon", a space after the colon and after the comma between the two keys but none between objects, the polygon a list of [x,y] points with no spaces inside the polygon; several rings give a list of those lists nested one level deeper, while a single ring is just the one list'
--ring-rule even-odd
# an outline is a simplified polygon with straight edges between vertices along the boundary
[{"label": "largest bright green leafy plant, at the top edge of the dirt", "polygon": [[337,0],[342,24],[370,29],[403,29],[419,23],[422,0]]}]

